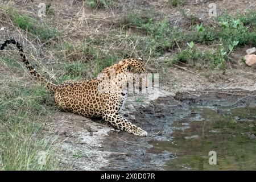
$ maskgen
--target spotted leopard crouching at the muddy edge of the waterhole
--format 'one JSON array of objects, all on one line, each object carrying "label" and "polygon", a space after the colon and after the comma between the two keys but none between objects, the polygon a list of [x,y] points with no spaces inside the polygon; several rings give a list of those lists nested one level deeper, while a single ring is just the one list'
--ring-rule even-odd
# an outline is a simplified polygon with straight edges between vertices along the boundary
[{"label": "spotted leopard crouching at the muddy edge of the waterhole", "polygon": [[[18,48],[22,61],[32,77],[54,93],[54,100],[62,111],[69,111],[88,118],[103,118],[117,130],[122,130],[140,137],[147,137],[147,131],[128,121],[121,114],[127,99],[128,90],[139,78],[139,90],[142,89],[141,77],[146,75],[147,66],[141,58],[127,58],[103,69],[97,77],[84,81],[64,81],[56,84],[42,76],[30,64],[23,47],[14,39],[7,39],[0,46],[3,51],[9,44]],[[146,82],[146,81],[143,81]],[[129,86],[132,85],[132,86]],[[147,88],[147,84],[146,88]]]}]

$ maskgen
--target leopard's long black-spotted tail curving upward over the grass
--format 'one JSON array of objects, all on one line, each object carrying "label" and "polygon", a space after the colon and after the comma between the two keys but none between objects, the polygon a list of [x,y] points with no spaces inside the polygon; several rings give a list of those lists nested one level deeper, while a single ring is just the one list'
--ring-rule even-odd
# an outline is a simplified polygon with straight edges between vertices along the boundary
[{"label": "leopard's long black-spotted tail curving upward over the grass", "polygon": [[53,82],[47,80],[45,77],[43,77],[42,75],[40,75],[40,73],[38,73],[34,67],[32,67],[32,65],[28,62],[27,60],[27,56],[24,54],[22,46],[20,46],[20,44],[13,39],[7,39],[3,44],[1,44],[0,46],[0,50],[2,51],[3,49],[5,49],[5,47],[8,46],[8,44],[14,44],[20,52],[20,56],[22,57],[23,63],[26,65],[27,69],[30,71],[31,75],[36,78],[36,80],[42,81],[43,84],[46,85],[46,87],[51,90],[52,92],[55,92],[55,90],[57,89],[57,85],[53,84]]}]

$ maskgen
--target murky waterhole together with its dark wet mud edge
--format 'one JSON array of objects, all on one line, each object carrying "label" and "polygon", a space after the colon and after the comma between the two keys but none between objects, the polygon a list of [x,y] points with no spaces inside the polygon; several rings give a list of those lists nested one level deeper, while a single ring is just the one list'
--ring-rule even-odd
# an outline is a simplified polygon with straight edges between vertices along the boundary
[{"label": "murky waterhole together with its dark wet mud edge", "polygon": [[177,93],[136,110],[134,123],[149,137],[110,133],[104,169],[256,169],[255,93]]}]

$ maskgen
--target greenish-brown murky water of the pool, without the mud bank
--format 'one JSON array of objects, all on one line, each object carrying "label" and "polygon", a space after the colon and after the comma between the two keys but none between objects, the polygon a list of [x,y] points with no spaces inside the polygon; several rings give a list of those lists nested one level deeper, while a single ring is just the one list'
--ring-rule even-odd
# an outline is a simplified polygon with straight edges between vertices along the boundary
[{"label": "greenish-brown murky water of the pool, without the mud bank", "polygon": [[[175,152],[164,169],[256,169],[256,107],[191,107],[172,127],[173,140],[150,142],[151,151]],[[216,152],[216,165],[209,152]]]}]

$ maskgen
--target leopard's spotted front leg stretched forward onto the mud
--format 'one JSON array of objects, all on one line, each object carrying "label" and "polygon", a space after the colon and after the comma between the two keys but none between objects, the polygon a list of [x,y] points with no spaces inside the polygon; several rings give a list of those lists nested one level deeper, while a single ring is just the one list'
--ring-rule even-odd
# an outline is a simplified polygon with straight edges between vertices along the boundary
[{"label": "leopard's spotted front leg stretched forward onto the mud", "polygon": [[101,95],[101,104],[103,107],[103,118],[116,127],[117,129],[127,131],[137,136],[146,137],[147,132],[142,130],[140,127],[127,121],[119,114],[119,110],[123,103],[123,97],[117,94]]}]

